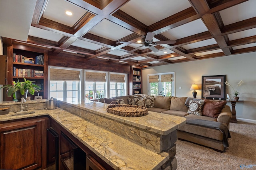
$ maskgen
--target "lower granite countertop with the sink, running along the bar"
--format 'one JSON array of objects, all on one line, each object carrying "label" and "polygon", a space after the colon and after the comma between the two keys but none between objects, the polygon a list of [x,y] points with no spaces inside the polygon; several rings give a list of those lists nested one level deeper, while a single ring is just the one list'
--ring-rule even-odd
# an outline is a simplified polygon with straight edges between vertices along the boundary
[{"label": "lower granite countertop with the sink, running along the bar", "polygon": [[145,149],[60,108],[34,111],[27,115],[0,115],[0,121],[49,115],[116,170],[157,170],[169,159],[166,152],[158,154]]}]

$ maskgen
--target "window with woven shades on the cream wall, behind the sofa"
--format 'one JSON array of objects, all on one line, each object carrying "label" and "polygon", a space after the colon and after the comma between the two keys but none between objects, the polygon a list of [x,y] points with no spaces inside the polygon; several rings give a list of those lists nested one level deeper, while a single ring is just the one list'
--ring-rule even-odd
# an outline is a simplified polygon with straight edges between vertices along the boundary
[{"label": "window with woven shades on the cream wall, behind the sofa", "polygon": [[174,72],[148,75],[148,91],[154,96],[175,96]]}]

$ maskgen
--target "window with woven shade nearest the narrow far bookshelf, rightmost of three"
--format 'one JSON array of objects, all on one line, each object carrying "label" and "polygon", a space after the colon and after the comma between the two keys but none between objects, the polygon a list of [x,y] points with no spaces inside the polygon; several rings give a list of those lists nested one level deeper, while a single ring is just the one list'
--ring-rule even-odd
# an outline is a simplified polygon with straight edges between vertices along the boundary
[{"label": "window with woven shade nearest the narrow far bookshelf, rightmost of three", "polygon": [[110,74],[110,98],[125,95],[125,74]]}]

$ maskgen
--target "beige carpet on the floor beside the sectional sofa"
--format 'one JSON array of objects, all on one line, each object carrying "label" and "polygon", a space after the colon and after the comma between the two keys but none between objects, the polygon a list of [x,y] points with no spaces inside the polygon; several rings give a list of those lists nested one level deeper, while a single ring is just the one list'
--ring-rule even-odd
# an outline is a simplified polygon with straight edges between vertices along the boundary
[{"label": "beige carpet on the floor beside the sectional sofa", "polygon": [[223,153],[177,140],[177,170],[256,170],[256,124],[230,123],[230,135]]}]

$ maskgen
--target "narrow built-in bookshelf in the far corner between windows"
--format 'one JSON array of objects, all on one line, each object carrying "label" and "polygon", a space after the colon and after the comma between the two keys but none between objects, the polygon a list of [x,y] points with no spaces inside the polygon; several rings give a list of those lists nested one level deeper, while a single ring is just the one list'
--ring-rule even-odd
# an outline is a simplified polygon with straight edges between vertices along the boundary
[{"label": "narrow built-in bookshelf in the far corner between windows", "polygon": [[129,92],[130,94],[142,94],[142,69],[140,67],[131,67],[131,74],[129,75]]}]

